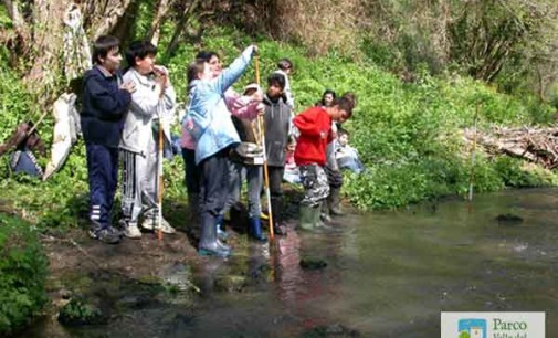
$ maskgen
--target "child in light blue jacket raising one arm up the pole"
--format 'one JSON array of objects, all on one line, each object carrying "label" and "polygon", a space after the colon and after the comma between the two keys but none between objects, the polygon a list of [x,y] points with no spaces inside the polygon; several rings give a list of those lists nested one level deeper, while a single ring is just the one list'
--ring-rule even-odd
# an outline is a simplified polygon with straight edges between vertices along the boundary
[{"label": "child in light blue jacket raising one arm up the pole", "polygon": [[229,152],[240,144],[224,92],[244,73],[255,51],[254,45],[245,49],[218,77],[204,60],[196,60],[188,67],[190,106],[185,126],[196,139],[196,165],[201,173],[201,255],[231,254],[217,237],[218,218],[229,194]]}]

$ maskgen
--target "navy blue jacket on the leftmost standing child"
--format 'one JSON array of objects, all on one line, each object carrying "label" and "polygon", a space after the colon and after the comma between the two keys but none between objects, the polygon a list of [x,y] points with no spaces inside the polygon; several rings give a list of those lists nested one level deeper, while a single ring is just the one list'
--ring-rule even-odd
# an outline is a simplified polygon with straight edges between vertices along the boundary
[{"label": "navy blue jacket on the leftmost standing child", "polygon": [[119,89],[119,74],[110,75],[94,66],[83,80],[82,133],[86,144],[117,148],[124,116],[131,102],[128,91]]}]

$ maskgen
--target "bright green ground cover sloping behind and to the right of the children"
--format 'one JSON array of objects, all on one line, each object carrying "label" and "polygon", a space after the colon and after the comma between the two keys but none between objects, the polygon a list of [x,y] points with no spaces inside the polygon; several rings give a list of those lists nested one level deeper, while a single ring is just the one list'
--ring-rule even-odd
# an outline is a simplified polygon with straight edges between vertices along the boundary
[{"label": "bright green ground cover sloping behind and to the right of the children", "polygon": [[[206,35],[202,46],[220,52],[227,64],[251,42],[239,31],[217,28]],[[470,184],[471,150],[465,148],[461,130],[473,127],[477,106],[480,128],[552,120],[552,107],[534,103],[531,96],[519,99],[499,94],[481,81],[459,74],[433,77],[422,71],[413,83],[406,83],[371,63],[354,62],[336,53],[309,60],[302,47],[256,42],[262,82],[274,70],[274,61],[287,56],[295,63],[292,86],[298,112],[314,105],[325,88],[357,93],[359,105],[346,128],[368,171],[358,177],[349,175],[344,189],[361,209],[464,196]],[[183,70],[182,61],[191,60],[198,50],[182,45],[169,61],[179,93],[186,91],[183,78],[177,75]],[[253,78],[251,70],[236,88]],[[475,192],[558,182],[549,171],[526,170],[520,160],[481,154],[475,160]]]}]

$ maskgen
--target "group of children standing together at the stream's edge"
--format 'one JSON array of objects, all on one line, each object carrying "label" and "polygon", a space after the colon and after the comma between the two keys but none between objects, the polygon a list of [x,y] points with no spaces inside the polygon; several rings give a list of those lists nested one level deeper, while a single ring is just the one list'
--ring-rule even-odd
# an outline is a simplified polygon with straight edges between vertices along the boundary
[{"label": "group of children standing together at the stream's edge", "polygon": [[[90,234],[106,243],[118,243],[123,236],[139,239],[139,228],[175,232],[156,201],[157,172],[161,166],[157,156],[158,135],[162,133],[164,144],[170,144],[168,122],[175,114],[176,93],[168,71],[155,63],[157,49],[151,43],[136,41],[129,45],[125,53],[129,67],[124,75],[119,71],[118,46],[119,41],[108,35],[95,42],[95,65],[84,76],[82,112],[90,183]],[[285,163],[293,158],[305,188],[299,228],[312,231],[327,228],[320,215],[327,220],[324,211],[335,210],[328,197],[334,196],[331,201],[338,203],[338,181],[343,176],[337,167],[328,169],[328,145],[336,137],[335,123],[351,116],[354,95],[334,97],[327,104],[324,101],[323,105],[293,117],[294,98],[288,85],[293,65],[286,59],[267,77],[265,93],[257,84],[248,85],[242,94],[235,93],[232,85],[256,53],[257,47],[251,45],[229,67],[222,68],[217,53],[203,51],[188,66],[189,99],[180,146],[192,221],[201,225],[198,244],[201,255],[231,254],[231,247],[224,243],[228,234],[223,216],[239,202],[243,178],[248,181],[249,235],[266,242],[260,203],[264,162],[275,234],[286,234],[281,184]],[[296,147],[288,158],[287,145],[294,138]],[[123,231],[114,228],[109,218],[119,156]]]}]

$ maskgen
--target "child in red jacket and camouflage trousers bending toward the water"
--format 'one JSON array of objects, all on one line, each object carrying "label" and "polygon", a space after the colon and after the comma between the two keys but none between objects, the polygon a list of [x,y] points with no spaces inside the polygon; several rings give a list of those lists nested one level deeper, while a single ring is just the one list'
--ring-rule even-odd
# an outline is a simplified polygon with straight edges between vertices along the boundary
[{"label": "child in red jacket and camouflage trousers bending toward the water", "polygon": [[299,228],[314,231],[324,228],[319,222],[322,204],[329,193],[326,163],[326,147],[334,135],[331,122],[344,123],[352,115],[352,103],[338,98],[329,107],[312,107],[294,119],[298,129],[298,142],[295,149],[295,162],[301,170],[304,187],[304,199],[301,201]]}]

